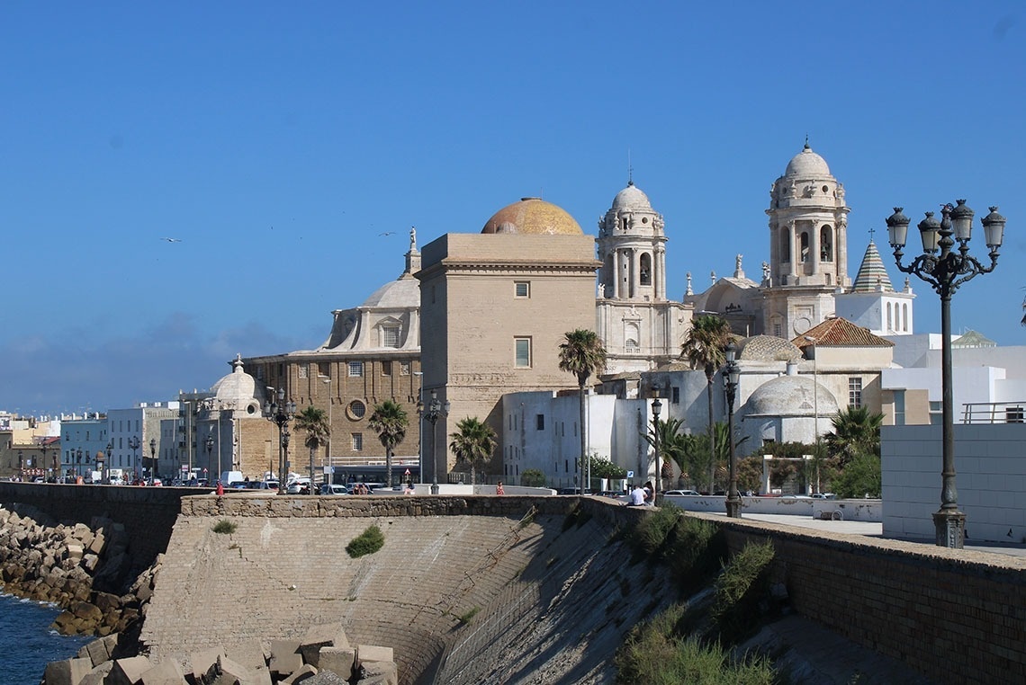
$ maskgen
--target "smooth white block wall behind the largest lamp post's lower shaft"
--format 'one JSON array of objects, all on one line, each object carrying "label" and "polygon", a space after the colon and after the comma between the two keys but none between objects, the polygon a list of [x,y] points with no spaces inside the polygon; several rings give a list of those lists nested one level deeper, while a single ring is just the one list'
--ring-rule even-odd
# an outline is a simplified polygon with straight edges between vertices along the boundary
[{"label": "smooth white block wall behind the largest lamp post's lower shaft", "polygon": [[[955,425],[955,485],[974,541],[1026,540],[1026,424]],[[881,433],[883,536],[934,539],[941,506],[941,427]]]}]

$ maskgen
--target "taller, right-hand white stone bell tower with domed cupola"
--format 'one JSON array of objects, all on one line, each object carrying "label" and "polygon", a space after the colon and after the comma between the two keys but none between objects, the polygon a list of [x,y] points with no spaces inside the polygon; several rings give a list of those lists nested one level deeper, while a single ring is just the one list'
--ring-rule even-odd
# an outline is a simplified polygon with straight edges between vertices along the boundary
[{"label": "taller, right-hand white stone bell tower with domed cupola", "polygon": [[770,191],[766,333],[794,337],[834,315],[834,293],[852,285],[849,211],[844,187],[806,139]]}]

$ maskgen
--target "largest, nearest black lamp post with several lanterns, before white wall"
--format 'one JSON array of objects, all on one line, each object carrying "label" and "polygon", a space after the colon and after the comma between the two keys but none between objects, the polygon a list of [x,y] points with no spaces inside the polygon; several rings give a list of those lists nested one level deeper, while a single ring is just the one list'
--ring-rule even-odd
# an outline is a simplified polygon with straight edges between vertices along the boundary
[{"label": "largest, nearest black lamp post with several lanterns, before white wall", "polygon": [[[990,248],[990,266],[969,254],[969,241],[973,231],[973,210],[965,200],[955,200],[941,209],[943,218],[938,221],[934,212],[919,221],[922,254],[908,266],[902,264],[902,248],[908,235],[909,218],[903,207],[895,207],[887,217],[887,235],[895,250],[898,269],[925,281],[941,297],[941,390],[943,422],[941,429],[943,466],[941,468],[941,509],[934,513],[934,528],[938,547],[961,549],[965,542],[965,514],[958,511],[958,491],[955,488],[955,437],[954,399],[951,381],[951,295],[958,286],[980,274],[989,274],[997,266],[997,250],[1004,237],[1004,217],[991,207],[983,217],[984,241]],[[953,236],[953,237],[952,237]],[[958,241],[957,252],[952,250]],[[940,249],[940,254],[937,253]]]}]

